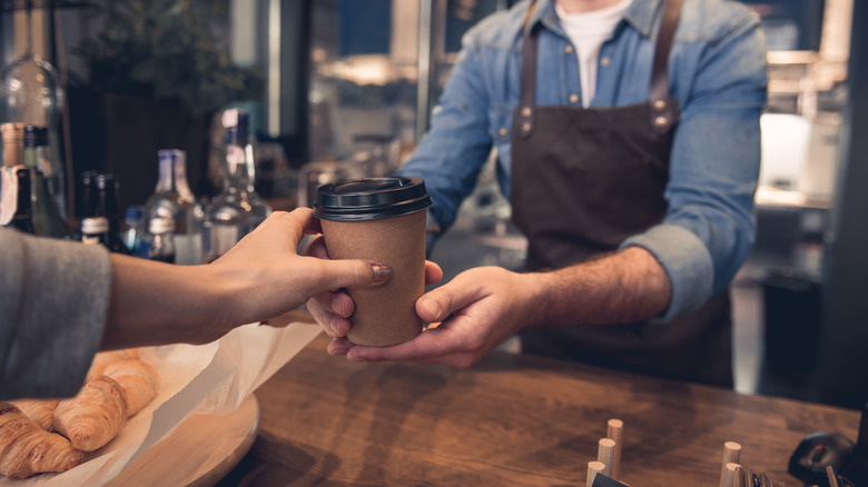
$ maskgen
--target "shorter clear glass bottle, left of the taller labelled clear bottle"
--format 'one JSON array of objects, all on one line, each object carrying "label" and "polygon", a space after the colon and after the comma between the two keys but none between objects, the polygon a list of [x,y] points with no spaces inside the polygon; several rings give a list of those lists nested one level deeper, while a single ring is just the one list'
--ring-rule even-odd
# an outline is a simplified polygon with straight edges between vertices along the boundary
[{"label": "shorter clear glass bottle, left of the taller labelled clear bottle", "polygon": [[187,155],[183,150],[162,149],[158,156],[159,178],[154,193],[145,202],[145,228],[149,228],[155,218],[171,219],[176,264],[203,264],[205,211],[187,182]]}]

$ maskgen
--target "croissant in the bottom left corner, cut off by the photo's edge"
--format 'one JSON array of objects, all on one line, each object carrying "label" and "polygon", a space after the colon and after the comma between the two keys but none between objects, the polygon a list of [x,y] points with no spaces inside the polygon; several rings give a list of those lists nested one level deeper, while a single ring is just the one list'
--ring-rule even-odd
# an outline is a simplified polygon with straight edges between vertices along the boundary
[{"label": "croissant in the bottom left corner, cut off by the photo's edge", "polygon": [[0,474],[11,479],[66,471],[85,460],[69,440],[48,433],[10,404],[0,402]]}]

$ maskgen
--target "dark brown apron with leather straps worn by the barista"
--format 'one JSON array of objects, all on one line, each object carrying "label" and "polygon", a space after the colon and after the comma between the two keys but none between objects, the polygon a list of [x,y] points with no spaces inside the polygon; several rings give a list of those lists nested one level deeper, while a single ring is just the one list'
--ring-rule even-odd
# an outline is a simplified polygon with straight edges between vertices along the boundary
[{"label": "dark brown apron with leather straps worn by the barista", "polygon": [[[650,100],[625,107],[535,107],[539,23],[525,26],[511,199],[513,221],[529,240],[527,270],[613,251],[662,221],[679,118],[668,63],[681,2],[665,1]],[[731,387],[731,330],[724,291],[668,324],[544,327],[521,338],[530,354]]]}]

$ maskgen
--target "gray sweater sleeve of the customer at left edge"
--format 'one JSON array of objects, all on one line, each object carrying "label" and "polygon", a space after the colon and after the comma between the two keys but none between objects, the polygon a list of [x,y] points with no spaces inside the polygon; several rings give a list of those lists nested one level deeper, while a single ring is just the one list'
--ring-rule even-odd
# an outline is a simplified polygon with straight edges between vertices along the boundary
[{"label": "gray sweater sleeve of the customer at left edge", "polygon": [[0,399],[78,391],[102,338],[110,287],[102,246],[0,228]]}]

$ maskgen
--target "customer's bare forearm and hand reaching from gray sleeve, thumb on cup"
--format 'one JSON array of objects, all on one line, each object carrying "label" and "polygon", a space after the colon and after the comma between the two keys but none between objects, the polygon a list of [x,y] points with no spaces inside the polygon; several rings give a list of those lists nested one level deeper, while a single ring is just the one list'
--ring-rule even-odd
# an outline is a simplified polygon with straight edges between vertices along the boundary
[{"label": "customer's bare forearm and hand reaching from gray sleeve, thumb on cup", "polygon": [[223,257],[176,266],[112,255],[111,301],[101,347],[207,344],[233,328],[267,320],[328,289],[376,286],[391,270],[367,260],[298,255],[319,232],[309,208],[272,213]]}]

